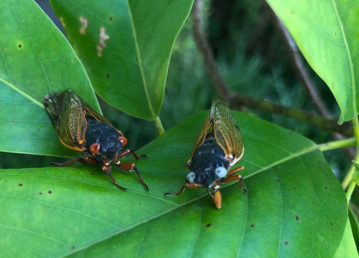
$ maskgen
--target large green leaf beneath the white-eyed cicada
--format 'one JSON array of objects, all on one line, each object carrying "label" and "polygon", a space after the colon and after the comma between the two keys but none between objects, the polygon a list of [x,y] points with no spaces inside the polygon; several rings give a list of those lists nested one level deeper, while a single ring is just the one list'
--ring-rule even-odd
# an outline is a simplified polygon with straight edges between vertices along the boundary
[{"label": "large green leaf beneath the white-eyed cicada", "polygon": [[256,117],[233,112],[246,194],[238,182],[222,184],[221,209],[205,189],[163,196],[185,184],[206,113],[136,151],[148,158],[124,159],[149,192],[135,173],[116,168],[126,192],[101,166],[0,170],[0,253],[17,255],[14,243],[22,243],[26,257],[333,257],[348,217],[339,182],[313,142]]}]

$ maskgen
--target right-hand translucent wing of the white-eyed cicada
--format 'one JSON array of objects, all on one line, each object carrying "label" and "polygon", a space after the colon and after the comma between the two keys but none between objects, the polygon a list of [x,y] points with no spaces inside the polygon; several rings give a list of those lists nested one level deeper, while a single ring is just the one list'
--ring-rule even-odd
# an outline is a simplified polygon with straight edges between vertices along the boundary
[{"label": "right-hand translucent wing of the white-eyed cicada", "polygon": [[242,158],[244,149],[241,130],[236,118],[228,106],[218,99],[213,101],[210,113],[213,117],[217,143],[222,147],[224,153],[228,157],[234,158],[237,163]]}]

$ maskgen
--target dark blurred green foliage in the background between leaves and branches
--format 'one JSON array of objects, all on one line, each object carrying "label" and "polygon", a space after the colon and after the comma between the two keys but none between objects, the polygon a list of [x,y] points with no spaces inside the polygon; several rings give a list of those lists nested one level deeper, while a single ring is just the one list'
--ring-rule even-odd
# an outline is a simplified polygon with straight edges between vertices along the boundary
[{"label": "dark blurred green foliage in the background between leaves and branches", "polygon": [[[274,103],[314,111],[306,91],[298,81],[286,56],[285,45],[273,26],[271,10],[265,1],[205,1],[205,21],[220,74],[233,91],[265,98]],[[339,108],[325,83],[311,70],[314,85],[334,117]],[[208,109],[218,97],[206,74],[201,54],[192,36],[191,16],[183,26],[173,48],[160,119],[168,130],[185,117]],[[126,147],[137,150],[158,137],[153,122],[130,117],[99,99],[104,117],[128,139]],[[317,143],[331,139],[328,132],[271,113],[251,113],[298,132]],[[239,126],[241,125],[241,121]],[[16,143],[14,143],[16,144]],[[142,154],[142,153],[139,153]],[[189,154],[188,154],[189,155]],[[335,172],[346,170],[346,157],[340,150],[325,153]],[[66,159],[48,156],[1,153],[0,168],[48,166]],[[336,173],[340,177],[340,173]]]}]

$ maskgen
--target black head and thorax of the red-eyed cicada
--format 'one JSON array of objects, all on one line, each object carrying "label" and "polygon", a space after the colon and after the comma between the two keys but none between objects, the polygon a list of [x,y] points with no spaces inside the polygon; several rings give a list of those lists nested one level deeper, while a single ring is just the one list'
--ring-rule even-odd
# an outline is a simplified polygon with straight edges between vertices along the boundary
[{"label": "black head and thorax of the red-eyed cicada", "polygon": [[86,117],[84,154],[96,159],[99,163],[118,162],[120,160],[123,144],[120,141],[122,133],[108,123]]}]

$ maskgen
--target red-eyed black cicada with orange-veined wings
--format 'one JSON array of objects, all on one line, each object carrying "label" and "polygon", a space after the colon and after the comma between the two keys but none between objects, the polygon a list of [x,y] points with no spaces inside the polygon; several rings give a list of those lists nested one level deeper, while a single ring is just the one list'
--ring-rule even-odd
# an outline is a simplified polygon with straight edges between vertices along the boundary
[{"label": "red-eyed black cicada with orange-veined wings", "polygon": [[137,156],[132,149],[123,150],[127,139],[121,131],[109,123],[100,113],[91,108],[84,100],[70,88],[64,92],[50,93],[43,100],[45,110],[56,129],[59,139],[66,147],[79,151],[85,156],[66,163],[51,163],[50,165],[67,166],[79,161],[83,164],[102,164],[102,171],[106,172],[113,183],[120,189],[115,178],[111,175],[111,163],[121,170],[135,170],[140,182],[146,187],[136,165],[131,162],[121,163],[121,158],[132,154],[135,159],[146,157]]}]

